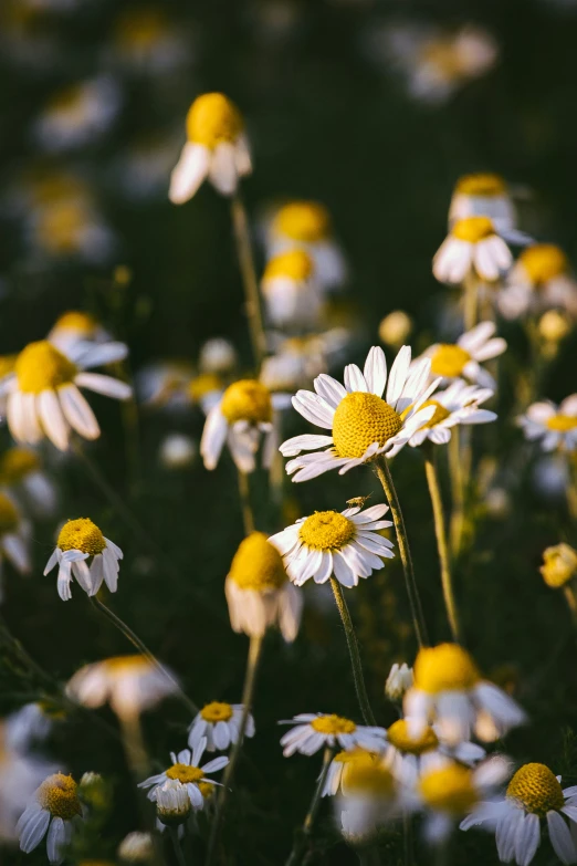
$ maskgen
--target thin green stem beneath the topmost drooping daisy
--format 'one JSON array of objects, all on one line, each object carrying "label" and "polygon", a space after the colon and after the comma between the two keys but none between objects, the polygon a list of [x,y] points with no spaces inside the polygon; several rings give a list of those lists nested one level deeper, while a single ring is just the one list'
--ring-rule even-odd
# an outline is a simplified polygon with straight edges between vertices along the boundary
[{"label": "thin green stem beneath the topmost drooping daisy", "polygon": [[240,192],[237,192],[231,200],[231,216],[234,241],[237,244],[237,255],[244,285],[245,309],[246,317],[249,320],[252,351],[258,374],[266,354],[266,337],[262,321],[256,270],[252,255],[249,218]]}]

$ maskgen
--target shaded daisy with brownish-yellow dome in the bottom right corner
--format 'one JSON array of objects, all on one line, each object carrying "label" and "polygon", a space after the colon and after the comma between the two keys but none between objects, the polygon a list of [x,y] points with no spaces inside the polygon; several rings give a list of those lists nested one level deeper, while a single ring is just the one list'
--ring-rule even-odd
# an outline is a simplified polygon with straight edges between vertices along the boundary
[{"label": "shaded daisy with brownish-yellow dome in the bottom right corner", "polygon": [[562,863],[577,863],[577,785],[562,789],[545,764],[521,766],[504,800],[480,803],[461,830],[483,826],[495,833],[499,859],[528,866],[541,843],[542,822]]}]

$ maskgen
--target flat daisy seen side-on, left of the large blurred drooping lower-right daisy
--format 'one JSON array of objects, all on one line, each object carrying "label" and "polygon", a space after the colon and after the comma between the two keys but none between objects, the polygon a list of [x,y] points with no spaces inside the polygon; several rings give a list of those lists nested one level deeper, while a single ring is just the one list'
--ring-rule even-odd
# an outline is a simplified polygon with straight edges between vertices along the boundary
[{"label": "flat daisy seen side-on, left of the large blurred drooping lower-right daisy", "polygon": [[385,749],[387,732],[385,728],[357,724],[342,716],[324,712],[301,712],[294,719],[279,722],[293,724],[281,738],[283,754],[290,758],[295,752],[314,754],[324,747],[337,747],[348,751],[360,747],[368,752],[381,752]]}]

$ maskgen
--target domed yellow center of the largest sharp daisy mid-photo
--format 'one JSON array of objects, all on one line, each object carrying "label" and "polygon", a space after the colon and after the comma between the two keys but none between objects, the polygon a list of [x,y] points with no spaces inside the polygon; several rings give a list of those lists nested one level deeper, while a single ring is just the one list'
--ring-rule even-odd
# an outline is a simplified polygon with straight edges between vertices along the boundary
[{"label": "domed yellow center of the largest sharp daisy mid-photo", "polygon": [[402,420],[376,394],[353,392],[343,397],[333,420],[333,441],[339,457],[363,457],[369,445],[384,446],[399,432]]}]

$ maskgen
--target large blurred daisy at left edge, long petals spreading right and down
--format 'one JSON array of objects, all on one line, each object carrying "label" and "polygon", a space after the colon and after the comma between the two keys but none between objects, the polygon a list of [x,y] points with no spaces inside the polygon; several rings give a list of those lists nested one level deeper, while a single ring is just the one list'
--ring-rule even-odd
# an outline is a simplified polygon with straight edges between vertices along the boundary
[{"label": "large blurred daisy at left edge, long petals spreading right and down", "polygon": [[19,442],[35,445],[46,436],[65,451],[70,431],[97,439],[101,428],[80,388],[126,400],[128,385],[101,373],[85,373],[126,356],[123,343],[105,343],[69,357],[46,340],[29,343],[19,354],[14,373],[2,382],[8,394],[8,426]]}]

